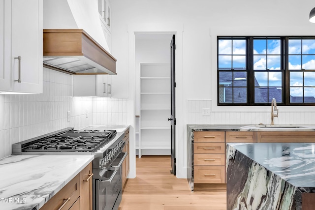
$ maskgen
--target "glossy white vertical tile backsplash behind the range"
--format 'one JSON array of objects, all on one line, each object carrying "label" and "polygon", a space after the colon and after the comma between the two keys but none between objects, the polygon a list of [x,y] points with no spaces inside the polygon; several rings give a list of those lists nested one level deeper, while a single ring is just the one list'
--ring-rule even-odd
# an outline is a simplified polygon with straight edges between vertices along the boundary
[{"label": "glossy white vertical tile backsplash behind the range", "polygon": [[11,154],[14,143],[66,127],[126,124],[126,99],[71,95],[72,76],[47,68],[43,93],[0,95],[0,158]]}]

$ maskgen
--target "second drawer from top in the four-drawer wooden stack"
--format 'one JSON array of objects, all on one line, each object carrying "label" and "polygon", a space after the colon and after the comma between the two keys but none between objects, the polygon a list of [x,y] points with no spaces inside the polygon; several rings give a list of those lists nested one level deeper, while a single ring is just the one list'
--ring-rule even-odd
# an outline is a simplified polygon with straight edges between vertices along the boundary
[{"label": "second drawer from top in the four-drawer wooden stack", "polygon": [[193,144],[193,153],[221,153],[224,154],[225,152],[225,144],[223,143],[216,143],[216,142],[211,142],[211,143],[207,143],[207,142],[195,142]]}]

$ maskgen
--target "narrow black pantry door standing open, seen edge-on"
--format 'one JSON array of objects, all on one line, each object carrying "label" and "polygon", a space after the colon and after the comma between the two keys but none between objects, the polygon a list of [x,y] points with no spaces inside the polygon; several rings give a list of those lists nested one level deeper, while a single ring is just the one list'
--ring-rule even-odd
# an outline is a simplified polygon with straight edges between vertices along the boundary
[{"label": "narrow black pantry door standing open, seen edge-on", "polygon": [[168,119],[171,121],[171,166],[174,175],[176,175],[176,156],[175,156],[175,35],[171,41],[171,117]]}]

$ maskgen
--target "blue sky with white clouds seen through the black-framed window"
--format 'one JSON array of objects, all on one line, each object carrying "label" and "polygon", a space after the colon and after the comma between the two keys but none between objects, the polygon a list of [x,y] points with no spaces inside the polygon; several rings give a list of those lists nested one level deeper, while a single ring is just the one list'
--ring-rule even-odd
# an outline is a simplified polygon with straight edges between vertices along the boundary
[{"label": "blue sky with white clouds seen through the black-framed window", "polygon": [[[288,43],[289,70],[315,70],[315,40],[289,39]],[[246,40],[219,40],[219,68],[246,69]],[[312,55],[313,54],[313,55]],[[254,70],[281,69],[281,40],[254,39],[253,42]],[[269,74],[269,79],[268,79]],[[255,78],[260,87],[281,87],[281,72],[256,72]],[[315,96],[315,72],[304,72],[304,96]],[[303,95],[303,72],[290,73],[290,95]]]}]

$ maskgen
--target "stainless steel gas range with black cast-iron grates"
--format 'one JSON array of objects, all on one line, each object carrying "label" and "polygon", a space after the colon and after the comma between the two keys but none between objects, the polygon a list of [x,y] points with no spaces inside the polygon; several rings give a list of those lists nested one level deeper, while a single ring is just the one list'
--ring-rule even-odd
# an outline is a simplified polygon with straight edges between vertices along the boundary
[{"label": "stainless steel gas range with black cast-iron grates", "polygon": [[118,210],[122,199],[123,132],[65,128],[12,145],[13,155],[94,155],[93,210]]}]

